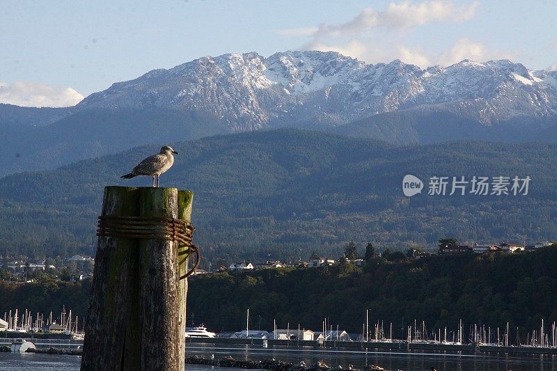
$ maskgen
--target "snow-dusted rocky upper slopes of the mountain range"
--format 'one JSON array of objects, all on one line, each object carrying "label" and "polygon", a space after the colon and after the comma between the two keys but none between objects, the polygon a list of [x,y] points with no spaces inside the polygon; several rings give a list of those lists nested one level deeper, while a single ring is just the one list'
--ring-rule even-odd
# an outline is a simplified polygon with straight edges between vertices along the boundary
[{"label": "snow-dusted rocky upper slopes of the mountain range", "polygon": [[336,52],[224,54],[113,84],[76,108],[93,107],[205,111],[233,131],[342,125],[408,109],[447,111],[492,125],[557,116],[557,72],[505,60],[422,70],[398,60],[366,64]]}]

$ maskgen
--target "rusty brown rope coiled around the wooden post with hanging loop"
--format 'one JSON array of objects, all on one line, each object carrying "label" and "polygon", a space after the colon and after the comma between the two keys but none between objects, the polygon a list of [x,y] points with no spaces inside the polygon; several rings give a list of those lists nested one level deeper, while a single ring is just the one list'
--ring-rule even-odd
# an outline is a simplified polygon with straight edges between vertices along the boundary
[{"label": "rusty brown rope coiled around the wooden post with hanging loop", "polygon": [[[194,230],[191,226],[181,219],[156,216],[99,216],[97,224],[97,236],[99,237],[125,237],[139,239],[166,239],[167,241],[178,242],[178,248],[187,250],[178,251],[178,258],[182,255],[194,253],[196,262],[186,274],[180,276],[180,280],[191,276],[199,266],[201,255],[199,248],[193,244]],[[178,261],[182,265],[188,256]]]}]

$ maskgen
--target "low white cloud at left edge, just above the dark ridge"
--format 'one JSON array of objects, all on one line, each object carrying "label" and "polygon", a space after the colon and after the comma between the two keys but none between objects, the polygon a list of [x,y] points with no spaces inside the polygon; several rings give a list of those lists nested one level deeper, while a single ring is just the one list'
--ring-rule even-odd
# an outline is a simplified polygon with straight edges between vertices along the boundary
[{"label": "low white cloud at left edge, just above the dark ridge", "polygon": [[65,107],[81,102],[84,96],[72,88],[59,88],[33,82],[0,82],[0,103],[26,107]]}]

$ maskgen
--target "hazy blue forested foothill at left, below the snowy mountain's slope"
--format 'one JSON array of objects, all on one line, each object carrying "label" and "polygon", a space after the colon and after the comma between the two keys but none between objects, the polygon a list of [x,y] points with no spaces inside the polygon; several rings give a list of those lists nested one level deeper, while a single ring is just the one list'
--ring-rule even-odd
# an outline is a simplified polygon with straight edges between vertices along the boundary
[{"label": "hazy blue forested foothill at left, below the snowy mountain's slope", "polygon": [[[38,118],[35,120],[40,123]],[[0,177],[21,171],[52,170],[146,143],[224,133],[228,130],[211,114],[175,109],[84,110],[47,126],[19,125],[0,116],[0,134],[9,139],[0,142]]]}]

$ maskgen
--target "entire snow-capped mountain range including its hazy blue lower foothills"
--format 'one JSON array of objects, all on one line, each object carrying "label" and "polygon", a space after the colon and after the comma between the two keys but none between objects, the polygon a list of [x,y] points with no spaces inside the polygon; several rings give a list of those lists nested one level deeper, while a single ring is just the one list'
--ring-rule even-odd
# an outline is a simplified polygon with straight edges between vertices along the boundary
[{"label": "entire snow-capped mountain range including its hazy blue lower foothills", "polygon": [[285,126],[395,144],[557,142],[557,72],[510,61],[422,70],[334,52],[204,57],[65,109],[0,104],[0,133],[10,139],[0,143],[0,177],[146,143]]}]

